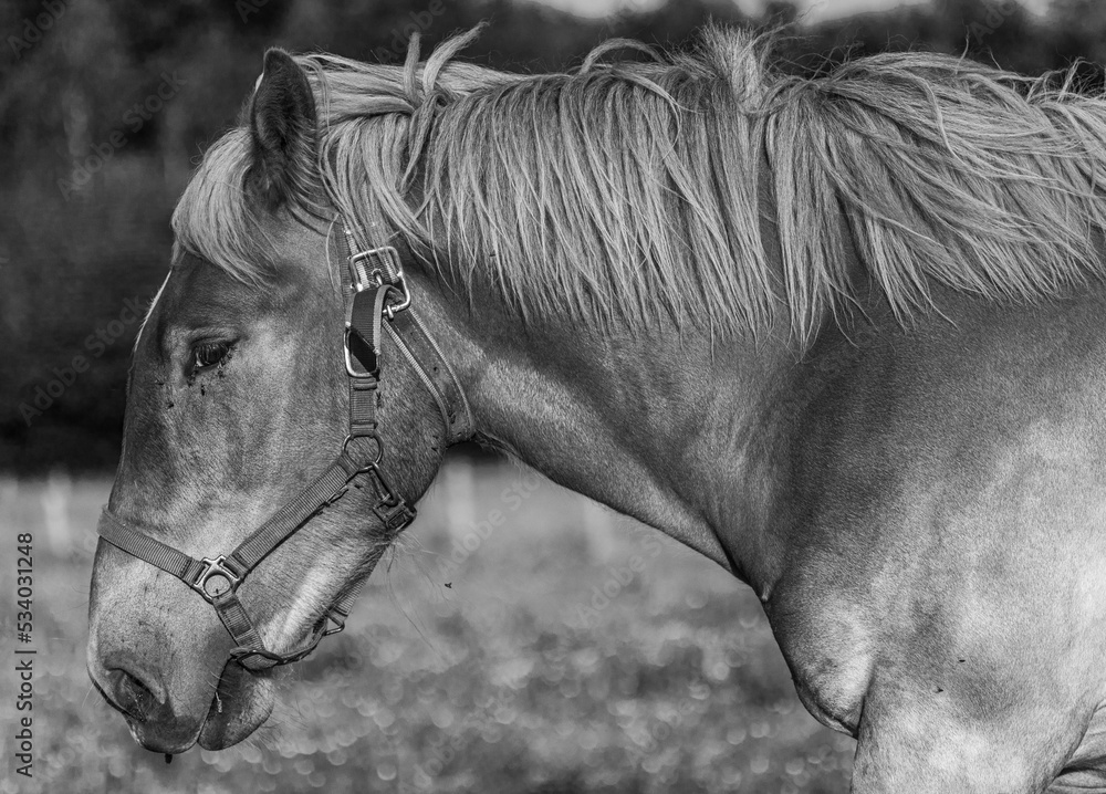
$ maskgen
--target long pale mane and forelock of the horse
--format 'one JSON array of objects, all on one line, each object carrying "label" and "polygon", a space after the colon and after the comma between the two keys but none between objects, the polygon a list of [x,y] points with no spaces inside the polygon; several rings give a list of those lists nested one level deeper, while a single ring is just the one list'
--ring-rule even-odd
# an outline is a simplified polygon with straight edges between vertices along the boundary
[{"label": "long pale mane and forelock of the horse", "polygon": [[[400,236],[524,317],[730,334],[783,310],[808,342],[851,300],[849,251],[902,322],[935,282],[1031,302],[1102,273],[1106,102],[1072,72],[912,52],[800,79],[763,40],[712,28],[691,53],[614,41],[574,73],[517,75],[455,61],[474,34],[425,62],[415,40],[403,66],[298,56],[320,119],[319,161],[302,166],[361,239]],[[604,60],[626,46],[649,60]],[[239,127],[173,226],[252,280],[274,252],[243,198],[249,165]],[[782,262],[761,237],[766,185]]]}]

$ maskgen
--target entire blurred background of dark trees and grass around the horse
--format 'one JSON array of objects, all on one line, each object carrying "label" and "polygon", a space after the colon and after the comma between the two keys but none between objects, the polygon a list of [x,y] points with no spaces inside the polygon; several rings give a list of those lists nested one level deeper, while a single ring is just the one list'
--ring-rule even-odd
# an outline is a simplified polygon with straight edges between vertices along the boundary
[{"label": "entire blurred background of dark trees and grass around the horse", "polygon": [[[0,558],[34,533],[42,654],[36,776],[11,774],[6,745],[0,794],[847,790],[853,743],[803,711],[747,588],[474,450],[257,740],[166,767],[84,672],[131,345],[177,196],[265,48],[398,62],[413,31],[432,45],[487,20],[466,58],[540,72],[614,35],[688,46],[709,19],[789,25],[781,64],[800,73],[915,48],[1026,74],[1086,59],[1081,86],[1103,86],[1099,0],[0,0]],[[508,522],[473,534],[495,509]]]}]

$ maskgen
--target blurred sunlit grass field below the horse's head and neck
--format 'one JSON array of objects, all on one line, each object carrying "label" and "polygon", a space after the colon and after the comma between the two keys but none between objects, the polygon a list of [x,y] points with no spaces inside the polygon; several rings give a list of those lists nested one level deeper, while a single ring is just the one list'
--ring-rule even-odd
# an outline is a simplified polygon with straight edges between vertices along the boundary
[{"label": "blurred sunlit grass field below the horse's head and neck", "polygon": [[[853,742],[800,706],[751,591],[534,474],[459,462],[270,725],[166,766],[85,671],[108,488],[0,479],[0,794],[848,787]],[[17,532],[35,543],[31,780],[12,759]]]}]

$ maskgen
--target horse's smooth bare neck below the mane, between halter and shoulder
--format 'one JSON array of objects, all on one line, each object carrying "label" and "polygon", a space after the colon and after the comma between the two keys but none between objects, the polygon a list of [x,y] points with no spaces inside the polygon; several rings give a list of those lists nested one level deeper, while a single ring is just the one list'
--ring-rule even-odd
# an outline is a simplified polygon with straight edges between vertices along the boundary
[{"label": "horse's smooth bare neck below the mane, between halter and shoulder", "polygon": [[761,579],[779,449],[762,419],[793,369],[784,344],[523,324],[493,301],[435,314],[479,438]]}]

